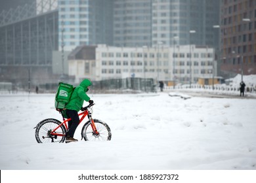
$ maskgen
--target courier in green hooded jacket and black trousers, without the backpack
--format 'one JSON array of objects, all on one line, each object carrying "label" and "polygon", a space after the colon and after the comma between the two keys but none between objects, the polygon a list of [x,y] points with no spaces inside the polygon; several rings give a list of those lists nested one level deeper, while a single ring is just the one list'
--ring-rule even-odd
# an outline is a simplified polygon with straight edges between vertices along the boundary
[{"label": "courier in green hooded jacket and black trousers, without the backpack", "polygon": [[66,133],[66,142],[75,142],[77,139],[74,139],[75,129],[79,124],[79,116],[77,112],[83,107],[83,101],[87,101],[90,104],[93,104],[93,100],[88,97],[86,92],[91,86],[91,81],[88,79],[83,80],[79,86],[74,89],[69,103],[66,105],[66,117],[71,118],[68,122],[68,132]]}]

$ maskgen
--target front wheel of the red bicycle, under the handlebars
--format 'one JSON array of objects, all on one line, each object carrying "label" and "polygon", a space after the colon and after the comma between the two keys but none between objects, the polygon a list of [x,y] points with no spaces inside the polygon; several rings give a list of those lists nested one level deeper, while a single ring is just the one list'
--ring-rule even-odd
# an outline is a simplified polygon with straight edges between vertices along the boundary
[{"label": "front wheel of the red bicycle, under the handlebars", "polygon": [[112,137],[110,127],[100,120],[94,119],[94,122],[98,134],[93,131],[91,121],[88,121],[83,125],[83,129],[81,131],[83,139],[85,139],[85,141],[110,141]]}]

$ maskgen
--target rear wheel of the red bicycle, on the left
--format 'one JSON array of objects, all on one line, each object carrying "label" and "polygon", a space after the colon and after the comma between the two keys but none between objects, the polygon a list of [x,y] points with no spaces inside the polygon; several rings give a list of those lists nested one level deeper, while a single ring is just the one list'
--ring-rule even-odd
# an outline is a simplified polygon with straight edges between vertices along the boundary
[{"label": "rear wheel of the red bicycle, on the left", "polygon": [[38,143],[49,142],[64,142],[66,137],[66,127],[61,125],[55,133],[62,134],[63,136],[51,135],[53,129],[58,127],[61,122],[52,118],[41,121],[35,129],[35,139]]}]

